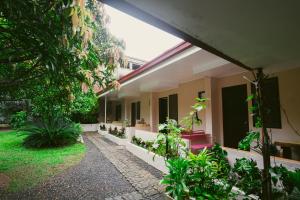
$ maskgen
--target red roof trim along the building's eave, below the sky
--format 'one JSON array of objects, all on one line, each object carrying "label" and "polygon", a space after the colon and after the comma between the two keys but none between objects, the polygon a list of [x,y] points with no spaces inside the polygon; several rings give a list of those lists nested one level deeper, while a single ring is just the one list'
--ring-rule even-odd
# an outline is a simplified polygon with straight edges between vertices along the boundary
[{"label": "red roof trim along the building's eave, below the sky", "polygon": [[147,62],[146,64],[144,64],[143,66],[139,67],[138,69],[130,72],[129,74],[121,77],[118,82],[119,83],[124,83],[130,79],[132,79],[133,77],[149,70],[152,69],[154,67],[156,67],[159,63],[167,60],[168,58],[171,58],[179,53],[181,53],[182,51],[192,47],[193,45],[191,43],[188,42],[181,42],[178,45],[176,45],[175,47],[165,51],[164,53],[162,53],[161,55],[157,56],[156,58],[152,59],[151,61]]}]

